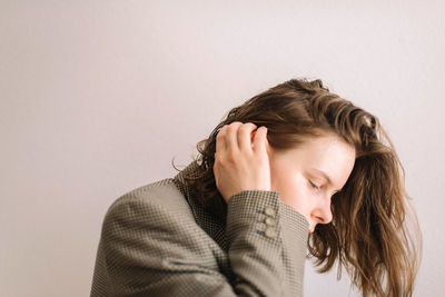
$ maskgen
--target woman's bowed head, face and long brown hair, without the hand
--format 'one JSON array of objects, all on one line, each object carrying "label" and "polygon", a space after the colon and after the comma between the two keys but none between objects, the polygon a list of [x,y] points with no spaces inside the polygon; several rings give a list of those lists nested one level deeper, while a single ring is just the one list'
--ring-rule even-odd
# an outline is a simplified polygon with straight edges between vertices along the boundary
[{"label": "woman's bowed head, face and long brown hair, without the hand", "polygon": [[[343,265],[347,269],[364,296],[412,294],[418,260],[416,242],[405,224],[408,196],[404,169],[375,116],[330,92],[320,80],[305,79],[288,80],[233,108],[209,138],[197,145],[199,171],[186,177],[188,186],[197,191],[198,202],[221,219],[227,206],[212,172],[216,136],[234,121],[267,127],[277,160],[274,185],[283,191],[288,189],[283,192],[284,198],[290,199],[293,191],[309,197],[310,181],[316,186],[324,182],[325,191],[317,196],[318,209],[306,205],[301,210],[306,218],[318,219],[308,250],[317,266],[324,265],[319,271],[329,270],[338,260],[339,268]],[[287,164],[294,158],[295,162]],[[279,174],[285,165],[296,178],[294,188],[288,186],[291,177]],[[314,167],[329,171],[333,185],[316,175]],[[309,181],[309,177],[314,180]],[[329,202],[332,215],[327,210]],[[412,218],[418,227],[414,212]]]}]

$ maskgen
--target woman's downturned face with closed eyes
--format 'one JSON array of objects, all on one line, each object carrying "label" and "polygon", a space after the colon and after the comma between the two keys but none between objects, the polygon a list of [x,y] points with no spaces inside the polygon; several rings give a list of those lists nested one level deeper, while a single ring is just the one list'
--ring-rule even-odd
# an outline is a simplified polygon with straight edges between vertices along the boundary
[{"label": "woman's downturned face with closed eyes", "polygon": [[306,217],[309,232],[317,224],[330,222],[330,199],[353,171],[354,147],[336,136],[323,136],[298,148],[276,151],[269,146],[267,151],[271,190],[280,200]]}]

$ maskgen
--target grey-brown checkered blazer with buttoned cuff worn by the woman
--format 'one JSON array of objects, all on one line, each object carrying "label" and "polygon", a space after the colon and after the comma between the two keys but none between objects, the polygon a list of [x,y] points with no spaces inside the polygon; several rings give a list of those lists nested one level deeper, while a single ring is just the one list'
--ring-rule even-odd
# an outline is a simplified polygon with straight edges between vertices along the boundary
[{"label": "grey-brown checkered blazer with buttoned cuff worn by the woman", "polygon": [[303,296],[308,222],[277,191],[245,190],[222,221],[174,178],[109,207],[91,296]]}]

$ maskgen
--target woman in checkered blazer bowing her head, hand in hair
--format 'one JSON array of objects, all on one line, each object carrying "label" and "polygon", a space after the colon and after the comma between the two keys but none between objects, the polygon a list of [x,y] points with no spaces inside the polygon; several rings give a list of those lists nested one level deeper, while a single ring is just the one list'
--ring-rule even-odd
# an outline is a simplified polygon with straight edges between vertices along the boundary
[{"label": "woman in checkered blazer bowing her head, hand in hair", "polygon": [[306,248],[363,296],[413,294],[421,231],[375,116],[291,79],[197,148],[175,178],[110,206],[91,296],[301,296]]}]

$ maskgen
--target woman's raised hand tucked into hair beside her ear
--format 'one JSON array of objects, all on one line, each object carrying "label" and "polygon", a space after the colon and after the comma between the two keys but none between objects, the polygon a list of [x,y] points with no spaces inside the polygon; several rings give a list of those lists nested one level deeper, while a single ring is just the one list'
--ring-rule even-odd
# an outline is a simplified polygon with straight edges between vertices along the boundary
[{"label": "woman's raised hand tucked into hair beside her ear", "polygon": [[216,137],[214,175],[226,202],[244,190],[270,190],[267,128],[235,121]]}]

